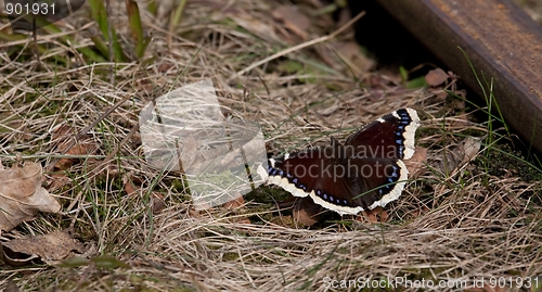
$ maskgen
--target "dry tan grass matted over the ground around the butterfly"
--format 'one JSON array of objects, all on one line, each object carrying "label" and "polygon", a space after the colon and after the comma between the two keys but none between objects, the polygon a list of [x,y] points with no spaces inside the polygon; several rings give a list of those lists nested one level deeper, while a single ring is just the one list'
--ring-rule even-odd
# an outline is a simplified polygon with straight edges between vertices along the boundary
[{"label": "dry tan grass matted over the ground around the butterfly", "polygon": [[[408,277],[438,282],[542,275],[541,183],[521,176],[531,172],[540,178],[540,173],[499,152],[498,145],[452,176],[437,166],[448,145],[463,137],[487,134],[485,123],[469,122],[464,115],[475,107],[438,98],[436,91],[406,89],[397,74],[361,71],[352,75],[334,49],[337,41],[351,40],[351,30],[232,79],[302,40],[271,17],[268,10],[274,2],[218,3],[191,1],[173,35],[168,34],[167,10],[157,17],[143,13],[146,33],[154,37],[146,53],[154,59],[149,62],[86,64],[73,48],[56,41],[56,35],[38,38],[50,48],[40,62],[31,61],[29,39],[16,47],[13,42],[0,45],[0,152],[4,163],[22,153],[23,158],[47,167],[57,153],[51,142],[54,127],[67,125],[80,131],[100,120],[88,131],[98,145],[94,158],[67,169],[68,178],[61,183],[48,174],[46,183],[59,196],[64,213],[40,214],[9,237],[74,226],[94,256],[115,256],[131,267],[3,266],[0,287],[14,280],[34,291],[326,291],[325,279]],[[125,10],[116,7],[113,11],[112,22],[126,36]],[[86,24],[86,17],[80,12],[77,22]],[[328,14],[310,20],[308,39],[340,26]],[[72,22],[61,23],[63,34],[81,45],[91,43]],[[237,24],[242,22],[248,25],[241,28]],[[11,48],[18,48],[21,55]],[[73,63],[55,64],[54,55],[72,55]],[[304,69],[288,73],[281,67],[294,61]],[[116,66],[114,85],[108,75],[112,66]],[[146,165],[138,134],[129,134],[138,125],[140,110],[153,98],[204,78],[212,78],[220,101],[233,116],[261,125],[274,152],[327,139],[304,118],[343,138],[380,114],[414,107],[424,119],[417,143],[429,149],[429,172],[386,208],[387,223],[331,216],[312,228],[278,224],[276,208],[264,203],[276,193],[271,188],[261,188],[254,201],[237,210],[196,213],[182,193],[178,174],[163,176]],[[127,101],[119,107],[102,116],[124,99]],[[114,160],[107,167],[99,167],[112,153]],[[508,168],[513,163],[507,162],[519,168]],[[127,173],[141,181],[136,194],[127,195],[122,188],[121,177]],[[152,191],[162,193],[167,206],[156,214],[151,211]]]}]

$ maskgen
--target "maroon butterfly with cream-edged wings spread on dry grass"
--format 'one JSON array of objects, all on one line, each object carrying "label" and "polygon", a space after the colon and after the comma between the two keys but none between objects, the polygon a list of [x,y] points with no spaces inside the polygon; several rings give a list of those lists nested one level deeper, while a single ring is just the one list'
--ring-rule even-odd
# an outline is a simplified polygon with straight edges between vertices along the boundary
[{"label": "maroon butterfly with cream-edged wings spread on dry grass", "polygon": [[362,127],[340,144],[310,148],[268,161],[269,182],[339,214],[385,206],[397,200],[414,154],[416,111],[400,109]]}]

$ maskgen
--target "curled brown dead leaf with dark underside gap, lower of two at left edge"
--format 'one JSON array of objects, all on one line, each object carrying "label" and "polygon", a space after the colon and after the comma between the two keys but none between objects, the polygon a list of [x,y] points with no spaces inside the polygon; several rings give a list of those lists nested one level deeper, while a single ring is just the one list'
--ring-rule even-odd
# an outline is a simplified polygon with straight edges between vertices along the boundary
[{"label": "curled brown dead leaf with dark underside gap, lower of two at left edge", "polygon": [[72,238],[67,230],[44,236],[14,239],[2,242],[0,256],[11,266],[26,266],[35,261],[53,265],[56,262],[83,252],[83,244]]}]

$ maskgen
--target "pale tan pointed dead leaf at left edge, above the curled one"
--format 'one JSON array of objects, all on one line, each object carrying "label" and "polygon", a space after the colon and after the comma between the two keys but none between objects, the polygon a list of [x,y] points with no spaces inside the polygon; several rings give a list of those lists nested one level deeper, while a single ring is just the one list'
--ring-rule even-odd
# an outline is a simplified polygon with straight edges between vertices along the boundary
[{"label": "pale tan pointed dead leaf at left edge, above the curled one", "polygon": [[41,187],[41,165],[37,163],[9,169],[0,164],[0,230],[10,231],[38,211],[61,211],[56,199]]}]

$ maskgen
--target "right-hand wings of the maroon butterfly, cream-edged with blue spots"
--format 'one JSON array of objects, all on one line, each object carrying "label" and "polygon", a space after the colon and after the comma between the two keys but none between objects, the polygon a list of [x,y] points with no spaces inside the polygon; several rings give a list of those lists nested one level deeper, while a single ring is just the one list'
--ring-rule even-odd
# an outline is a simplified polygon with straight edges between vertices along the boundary
[{"label": "right-hand wings of the maroon butterfly, cream-edged with blue spots", "polygon": [[360,172],[351,183],[360,186],[354,202],[373,210],[397,200],[409,170],[402,162],[414,154],[421,122],[416,111],[400,109],[366,125],[347,139],[349,163]]}]

